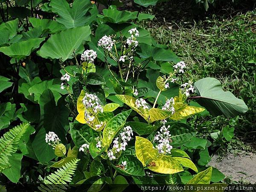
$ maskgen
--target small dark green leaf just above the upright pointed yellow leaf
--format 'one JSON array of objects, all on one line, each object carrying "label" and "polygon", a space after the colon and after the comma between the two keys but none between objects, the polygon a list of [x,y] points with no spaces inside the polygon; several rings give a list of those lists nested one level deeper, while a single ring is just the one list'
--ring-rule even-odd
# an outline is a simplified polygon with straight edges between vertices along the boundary
[{"label": "small dark green leaf just above the upright pointed yellow leaf", "polygon": [[127,122],[139,136],[149,135],[154,131],[154,126],[143,122]]}]

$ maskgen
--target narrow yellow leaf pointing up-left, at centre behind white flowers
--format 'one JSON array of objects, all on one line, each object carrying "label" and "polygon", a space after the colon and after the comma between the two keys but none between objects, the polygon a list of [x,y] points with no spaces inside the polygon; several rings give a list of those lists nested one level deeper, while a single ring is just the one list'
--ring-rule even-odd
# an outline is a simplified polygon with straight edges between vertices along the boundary
[{"label": "narrow yellow leaf pointing up-left, at centre behind white flowers", "polygon": [[116,95],[118,99],[120,99],[122,102],[124,102],[126,105],[128,105],[130,108],[132,108],[134,111],[139,113],[146,121],[148,121],[149,113],[148,109],[140,108],[138,109],[135,105],[136,98],[128,95]]}]

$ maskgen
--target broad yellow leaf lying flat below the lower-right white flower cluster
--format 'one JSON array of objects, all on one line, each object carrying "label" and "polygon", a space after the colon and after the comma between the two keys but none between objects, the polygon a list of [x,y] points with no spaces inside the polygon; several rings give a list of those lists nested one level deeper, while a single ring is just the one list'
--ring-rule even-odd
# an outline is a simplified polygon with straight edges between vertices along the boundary
[{"label": "broad yellow leaf lying flat below the lower-right white flower cluster", "polygon": [[174,157],[166,155],[162,155],[155,160],[152,160],[149,165],[148,169],[151,171],[163,174],[174,174],[184,170]]}]

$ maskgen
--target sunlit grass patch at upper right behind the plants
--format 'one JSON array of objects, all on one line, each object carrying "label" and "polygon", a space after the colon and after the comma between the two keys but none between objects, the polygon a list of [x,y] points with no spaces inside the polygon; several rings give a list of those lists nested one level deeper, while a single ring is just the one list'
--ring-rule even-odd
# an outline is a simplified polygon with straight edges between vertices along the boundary
[{"label": "sunlit grass patch at upper right behind the plants", "polygon": [[[163,18],[163,22],[159,22],[158,18],[140,25],[147,28],[158,43],[168,44],[188,64],[188,79],[215,77],[222,82],[224,90],[244,100],[249,111],[236,118],[236,138],[253,143],[256,140],[256,12],[232,18],[212,15],[197,22],[176,21]],[[202,134],[219,130],[229,122],[223,116],[207,118],[206,124],[203,120],[198,119]],[[239,142],[235,139],[222,149],[252,149]]]}]

